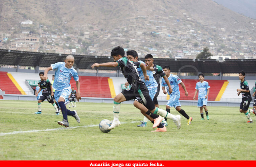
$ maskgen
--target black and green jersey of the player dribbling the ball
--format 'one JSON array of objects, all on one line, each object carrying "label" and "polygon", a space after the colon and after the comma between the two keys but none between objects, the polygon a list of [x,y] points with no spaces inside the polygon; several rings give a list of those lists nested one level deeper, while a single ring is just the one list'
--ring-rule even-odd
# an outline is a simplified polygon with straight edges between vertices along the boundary
[{"label": "black and green jersey of the player dribbling the ball", "polygon": [[130,84],[131,89],[136,90],[140,88],[140,85],[143,83],[141,80],[137,68],[140,67],[140,62],[133,62],[127,57],[122,57],[116,60],[118,66],[120,67],[123,76]]}]

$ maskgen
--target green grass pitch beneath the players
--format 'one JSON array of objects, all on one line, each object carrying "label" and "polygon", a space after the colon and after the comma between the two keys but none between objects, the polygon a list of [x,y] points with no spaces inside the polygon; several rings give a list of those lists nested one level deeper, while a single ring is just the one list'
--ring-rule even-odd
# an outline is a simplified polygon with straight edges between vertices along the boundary
[{"label": "green grass pitch beneath the players", "polygon": [[62,114],[52,105],[41,106],[36,115],[36,101],[0,101],[0,160],[256,160],[256,117],[246,123],[238,107],[208,107],[210,120],[200,120],[196,106],[182,106],[190,126],[182,117],[180,130],[168,120],[167,132],[151,132],[150,122],[136,126],[143,115],[135,107],[122,104],[121,125],[102,133],[112,104],[77,103],[81,123],[69,116],[69,128],[57,124]]}]

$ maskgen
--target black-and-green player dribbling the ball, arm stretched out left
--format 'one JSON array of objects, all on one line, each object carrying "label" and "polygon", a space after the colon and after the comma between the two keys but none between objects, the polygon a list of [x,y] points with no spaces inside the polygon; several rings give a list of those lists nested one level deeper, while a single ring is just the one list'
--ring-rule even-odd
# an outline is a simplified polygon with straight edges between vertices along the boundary
[{"label": "black-and-green player dribbling the ball, arm stretched out left", "polygon": [[[111,126],[108,129],[113,129],[120,125],[119,121],[119,112],[120,112],[120,104],[124,101],[129,101],[132,99],[137,99],[138,101],[134,101],[134,106],[138,109],[144,111],[147,115],[154,119],[153,128],[157,127],[160,122],[162,121],[162,117],[158,116],[161,115],[165,118],[172,119],[173,122],[176,124],[177,128],[180,129],[180,116],[174,116],[166,111],[155,107],[152,99],[149,96],[149,91],[145,86],[145,83],[141,80],[138,70],[138,67],[142,68],[143,75],[145,80],[149,80],[149,76],[147,75],[147,70],[144,63],[139,62],[132,62],[127,57],[124,56],[124,49],[120,46],[117,46],[112,49],[111,56],[114,59],[114,62],[107,62],[107,63],[94,63],[92,64],[92,68],[94,67],[116,67],[119,66],[124,77],[128,81],[131,86],[131,89],[124,90],[119,93],[116,97],[114,97],[114,105],[113,105],[113,114],[114,120]],[[140,108],[140,105],[144,104],[145,108]],[[143,105],[142,105],[143,106]]]}]

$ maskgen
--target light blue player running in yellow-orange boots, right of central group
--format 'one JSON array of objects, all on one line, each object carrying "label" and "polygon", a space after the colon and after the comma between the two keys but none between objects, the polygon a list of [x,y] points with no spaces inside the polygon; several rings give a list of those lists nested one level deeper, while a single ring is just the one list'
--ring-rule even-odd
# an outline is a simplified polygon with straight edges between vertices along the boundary
[{"label": "light blue player running in yellow-orange boots, right of central group", "polygon": [[[190,125],[191,121],[192,121],[192,117],[189,117],[187,115],[187,113],[180,108],[181,105],[180,105],[180,101],[179,101],[179,99],[180,99],[179,84],[184,89],[185,95],[188,96],[188,92],[186,90],[186,87],[177,75],[173,75],[173,74],[170,73],[170,67],[169,66],[164,66],[163,70],[164,70],[164,72],[165,72],[165,74],[168,78],[168,81],[171,84],[171,87],[172,87],[172,93],[170,94],[168,92],[168,95],[170,95],[170,99],[168,100],[168,102],[166,104],[166,111],[168,113],[170,113],[170,108],[174,107],[177,112],[179,112],[183,117],[185,117],[187,119],[187,125]],[[165,91],[165,87],[166,87],[167,91],[169,91],[169,87],[167,87],[167,83],[164,80],[164,78],[162,78],[161,86],[162,86],[162,90],[163,90],[164,94],[167,94],[167,92]]]}]

